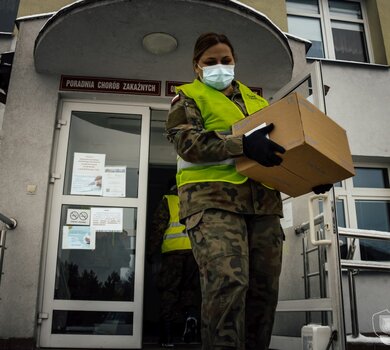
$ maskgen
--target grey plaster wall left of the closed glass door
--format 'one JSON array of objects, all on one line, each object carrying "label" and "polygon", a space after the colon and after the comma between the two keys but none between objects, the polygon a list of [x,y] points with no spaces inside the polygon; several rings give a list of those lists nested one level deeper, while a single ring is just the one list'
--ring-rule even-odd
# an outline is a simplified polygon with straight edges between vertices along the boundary
[{"label": "grey plaster wall left of the closed glass door", "polygon": [[[3,120],[0,212],[18,227],[7,235],[0,286],[0,338],[32,338],[42,233],[56,117],[58,78],[35,73],[33,47],[42,20],[22,22]],[[27,194],[27,185],[37,192]]]}]

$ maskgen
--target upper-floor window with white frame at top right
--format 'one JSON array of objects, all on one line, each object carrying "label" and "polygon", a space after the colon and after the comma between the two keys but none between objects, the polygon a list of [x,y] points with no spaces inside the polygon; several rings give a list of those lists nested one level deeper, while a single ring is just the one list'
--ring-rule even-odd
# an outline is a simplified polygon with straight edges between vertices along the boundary
[{"label": "upper-floor window with white frame at top right", "polygon": [[369,62],[363,0],[287,0],[289,33],[310,40],[307,56]]}]

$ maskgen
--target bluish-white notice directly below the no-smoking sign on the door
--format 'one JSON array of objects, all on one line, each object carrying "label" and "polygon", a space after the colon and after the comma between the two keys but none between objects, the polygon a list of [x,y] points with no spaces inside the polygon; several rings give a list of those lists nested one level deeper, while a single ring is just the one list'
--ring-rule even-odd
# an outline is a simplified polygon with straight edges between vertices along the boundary
[{"label": "bluish-white notice directly below the no-smoking sign on the door", "polygon": [[89,226],[63,226],[62,249],[94,250],[95,231]]}]

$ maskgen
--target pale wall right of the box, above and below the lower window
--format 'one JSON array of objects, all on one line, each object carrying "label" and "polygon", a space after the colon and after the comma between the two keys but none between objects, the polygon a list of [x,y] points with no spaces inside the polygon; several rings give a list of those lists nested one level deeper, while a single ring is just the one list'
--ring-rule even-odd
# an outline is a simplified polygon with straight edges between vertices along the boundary
[{"label": "pale wall right of the box, above and below the lower window", "polygon": [[[390,71],[388,67],[323,62],[327,114],[347,130],[354,159],[390,164]],[[389,308],[390,273],[356,276],[359,327],[373,333],[372,316]],[[343,273],[346,331],[351,332],[348,279]]]}]

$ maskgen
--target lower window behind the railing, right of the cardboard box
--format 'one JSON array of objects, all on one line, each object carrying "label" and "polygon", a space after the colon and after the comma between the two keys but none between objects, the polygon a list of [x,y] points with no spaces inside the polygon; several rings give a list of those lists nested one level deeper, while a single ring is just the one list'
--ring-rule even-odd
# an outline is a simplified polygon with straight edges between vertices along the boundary
[{"label": "lower window behind the railing, right of the cardboard box", "polygon": [[[338,226],[384,231],[390,235],[390,168],[359,166],[355,171],[353,178],[335,188]],[[345,257],[345,246],[341,252]],[[390,261],[390,241],[360,239],[355,258]]]}]

